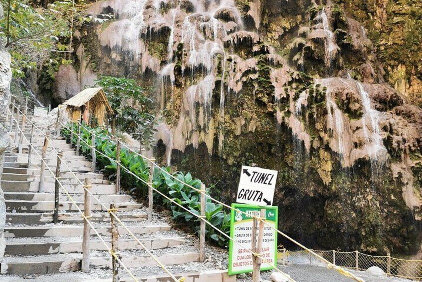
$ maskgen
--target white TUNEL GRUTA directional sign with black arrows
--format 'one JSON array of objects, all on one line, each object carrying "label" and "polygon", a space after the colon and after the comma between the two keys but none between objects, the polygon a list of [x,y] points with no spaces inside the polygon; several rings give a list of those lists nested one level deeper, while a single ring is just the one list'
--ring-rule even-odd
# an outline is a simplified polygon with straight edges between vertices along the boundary
[{"label": "white TUNEL GRUTA directional sign with black arrows", "polygon": [[277,173],[276,170],[242,166],[236,202],[271,206]]}]

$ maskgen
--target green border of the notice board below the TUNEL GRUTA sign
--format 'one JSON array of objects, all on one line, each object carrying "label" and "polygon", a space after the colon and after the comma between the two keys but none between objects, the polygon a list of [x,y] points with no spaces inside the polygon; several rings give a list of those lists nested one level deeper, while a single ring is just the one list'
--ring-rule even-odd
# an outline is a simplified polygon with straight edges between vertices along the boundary
[{"label": "green border of the notice board below the TUNEL GRUTA sign", "polygon": [[[231,216],[230,216],[230,238],[234,239],[234,223],[235,223],[235,216],[236,216],[236,213],[237,213],[237,211],[235,211],[234,209],[239,209],[239,208],[251,208],[251,209],[256,209],[256,210],[261,210],[261,209],[273,210],[274,213],[275,213],[275,221],[274,221],[275,229],[278,229],[278,206],[257,206],[257,205],[249,205],[249,204],[232,203],[231,207],[233,209],[231,210]],[[267,217],[265,216],[265,218],[267,218]],[[242,220],[242,221],[253,221],[253,218],[247,219],[247,220]],[[270,220],[267,220],[267,219],[265,219],[265,221],[273,222],[273,221],[270,221]],[[277,264],[277,244],[278,244],[277,241],[278,241],[278,234],[275,233],[274,265]],[[252,272],[253,271],[253,264],[252,264],[250,269],[233,271],[232,265],[233,265],[233,247],[234,247],[234,244],[236,244],[236,243],[233,240],[230,240],[229,254],[228,254],[228,275],[235,275],[235,274]],[[249,252],[247,252],[247,253],[249,254]],[[252,258],[252,260],[253,260],[253,258]],[[263,264],[265,264],[265,263],[262,262],[262,265]],[[271,266],[268,266],[268,267],[261,266],[261,271],[272,270],[272,269],[274,269],[274,268],[271,267]]]}]

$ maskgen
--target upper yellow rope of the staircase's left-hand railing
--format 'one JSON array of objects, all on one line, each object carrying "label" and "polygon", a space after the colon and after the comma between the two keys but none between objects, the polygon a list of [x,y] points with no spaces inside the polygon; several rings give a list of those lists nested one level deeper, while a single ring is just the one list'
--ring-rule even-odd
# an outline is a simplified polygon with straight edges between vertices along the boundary
[{"label": "upper yellow rope of the staircase's left-hand railing", "polygon": [[[13,103],[11,103],[13,106]],[[17,108],[18,109],[18,108]],[[20,111],[20,109],[18,109],[18,111]],[[20,111],[21,112],[21,111]],[[22,113],[22,112],[21,112]],[[24,114],[24,113],[22,113]],[[13,117],[13,119],[16,121],[16,119]],[[143,244],[134,234],[132,231],[129,230],[129,228],[117,217],[117,215],[113,212],[110,211],[110,209],[108,209],[104,203],[102,203],[91,191],[89,191],[88,189],[86,189],[86,187],[84,186],[83,182],[77,177],[77,175],[70,169],[70,167],[66,164],[66,162],[64,161],[64,159],[62,157],[60,157],[59,155],[59,150],[57,150],[57,148],[55,148],[55,146],[52,144],[51,139],[48,138],[48,136],[39,128],[37,127],[33,122],[29,121],[35,129],[37,129],[45,138],[45,140],[48,141],[48,143],[51,145],[51,148],[55,151],[55,153],[57,154],[57,158],[61,160],[62,164],[64,164],[64,166],[69,170],[69,172],[75,177],[75,179],[79,182],[80,185],[82,185],[83,189],[92,197],[94,198],[106,211],[109,212],[110,216],[112,216],[113,218],[116,219],[116,221],[129,233],[129,235],[131,235],[133,237],[133,239],[148,253],[148,255],[172,278],[173,281],[178,282],[179,280],[176,279],[176,277],[158,260],[158,258],[151,253],[151,251],[145,246],[145,244]],[[61,123],[61,122],[60,122]],[[63,123],[61,123],[63,125]],[[16,121],[16,126],[18,126],[18,122]],[[20,127],[19,127],[20,129]],[[21,131],[22,132],[22,131]],[[24,133],[21,133],[24,138],[27,140],[26,136],[24,135]],[[78,134],[75,134],[75,136],[77,136],[81,141],[85,142],[85,140],[83,140],[83,138],[81,138]],[[29,141],[27,140],[27,142],[29,143]],[[85,142],[86,143],[86,142]],[[88,145],[88,143],[86,143]],[[29,145],[33,148],[32,144],[29,143]],[[35,150],[33,148],[33,150]],[[36,150],[35,150],[36,152]],[[36,152],[38,154],[38,152]],[[39,155],[39,154],[38,154]],[[45,163],[45,161],[43,160],[43,162]],[[72,199],[73,202],[73,199]],[[78,207],[79,209],[79,207]],[[137,281],[137,280],[136,280]]]}]

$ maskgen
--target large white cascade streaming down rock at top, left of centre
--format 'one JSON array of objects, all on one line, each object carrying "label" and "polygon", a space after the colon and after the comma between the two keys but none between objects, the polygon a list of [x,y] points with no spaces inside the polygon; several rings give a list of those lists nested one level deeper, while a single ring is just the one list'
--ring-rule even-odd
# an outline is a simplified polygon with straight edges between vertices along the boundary
[{"label": "large white cascade streaming down rock at top, left of centre", "polygon": [[[170,94],[167,92],[168,89],[173,93],[175,64],[180,66],[182,76],[189,74],[192,86],[185,89],[179,121],[170,130],[174,134],[182,134],[181,137],[173,138],[176,140],[173,142],[177,144],[172,146],[173,148],[183,151],[188,144],[197,147],[198,142],[204,141],[202,138],[212,127],[204,126],[204,122],[211,118],[212,91],[219,76],[221,77],[219,115],[224,117],[224,83],[228,74],[224,43],[229,34],[238,31],[243,25],[234,1],[127,0],[124,4],[117,2],[110,0],[96,3],[90,9],[98,13],[110,6],[117,18],[100,31],[101,45],[108,46],[112,53],[117,54],[115,57],[121,59],[125,56],[126,60],[141,65],[142,72],[148,70],[157,75],[159,104],[162,110],[166,108],[166,96]],[[152,49],[154,43],[166,46],[167,52],[161,61],[157,56],[153,56],[152,52],[157,52]],[[180,43],[183,44],[182,56],[176,58],[178,61],[174,61],[175,51]],[[167,64],[163,64],[163,61]],[[238,58],[238,63],[241,62],[242,60]],[[227,89],[231,90],[229,85]],[[235,90],[238,92],[238,89]],[[197,104],[201,106],[198,111]],[[183,122],[188,122],[183,111],[189,112],[189,125],[182,126]],[[198,124],[199,127],[197,122],[201,123]],[[212,130],[211,133],[213,134]]]}]

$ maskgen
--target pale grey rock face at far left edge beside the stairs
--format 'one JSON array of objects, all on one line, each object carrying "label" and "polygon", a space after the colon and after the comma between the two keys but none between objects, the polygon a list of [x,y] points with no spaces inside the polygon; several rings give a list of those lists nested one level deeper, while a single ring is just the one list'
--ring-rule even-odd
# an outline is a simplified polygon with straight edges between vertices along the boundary
[{"label": "pale grey rock face at far left edge beside the stairs", "polygon": [[[0,17],[3,16],[3,7],[0,4]],[[11,81],[10,54],[0,42],[0,112],[7,110],[9,101],[9,87]],[[0,180],[3,173],[4,151],[9,145],[7,130],[0,124]],[[4,226],[6,224],[6,204],[0,182],[0,260],[3,258],[6,247],[4,241]]]}]

